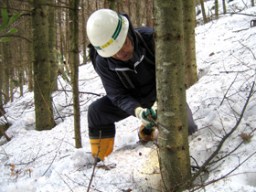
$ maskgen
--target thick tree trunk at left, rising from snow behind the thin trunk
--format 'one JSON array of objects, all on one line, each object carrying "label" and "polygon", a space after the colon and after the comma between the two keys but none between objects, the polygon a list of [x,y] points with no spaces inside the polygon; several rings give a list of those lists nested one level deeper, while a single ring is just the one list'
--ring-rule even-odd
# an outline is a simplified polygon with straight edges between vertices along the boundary
[{"label": "thick tree trunk at left, rising from snow behind the thin trunk", "polygon": [[34,99],[37,131],[50,130],[56,124],[52,113],[46,4],[48,0],[33,0]]}]

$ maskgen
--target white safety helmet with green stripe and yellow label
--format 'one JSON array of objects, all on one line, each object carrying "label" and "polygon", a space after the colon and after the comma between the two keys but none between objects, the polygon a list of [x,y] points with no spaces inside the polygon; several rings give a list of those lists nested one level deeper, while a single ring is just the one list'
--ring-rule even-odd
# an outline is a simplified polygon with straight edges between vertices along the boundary
[{"label": "white safety helmet with green stripe and yellow label", "polygon": [[123,47],[128,28],[125,16],[111,9],[100,9],[87,21],[87,36],[101,57],[110,58]]}]

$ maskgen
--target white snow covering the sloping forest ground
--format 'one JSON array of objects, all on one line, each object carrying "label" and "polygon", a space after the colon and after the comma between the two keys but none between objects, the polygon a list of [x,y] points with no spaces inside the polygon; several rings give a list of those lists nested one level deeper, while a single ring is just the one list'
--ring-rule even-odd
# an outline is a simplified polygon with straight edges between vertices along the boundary
[{"label": "white snow covering the sloping forest ground", "polygon": [[[209,1],[211,7],[214,1]],[[256,7],[250,1],[231,1],[229,10],[248,8],[241,13],[253,14],[220,16],[196,28],[197,69],[200,79],[187,91],[187,102],[194,113],[198,132],[189,136],[191,164],[202,165],[221,138],[236,125],[251,86],[255,81]],[[211,5],[210,5],[211,4]],[[221,8],[221,7],[220,7]],[[59,89],[71,90],[69,83],[59,77]],[[80,67],[80,91],[104,95],[101,80],[91,64]],[[253,88],[255,91],[255,88]],[[82,148],[74,147],[73,109],[71,92],[53,94],[58,125],[50,131],[35,131],[33,93],[5,106],[6,117],[12,126],[6,132],[11,141],[0,140],[0,192],[57,192],[86,191],[93,169],[91,146],[87,130],[87,110],[99,96],[80,94]],[[205,187],[206,191],[256,191],[256,137],[253,136],[256,119],[256,100],[252,95],[238,129],[223,144],[218,158],[240,147],[227,158],[211,165],[202,177],[210,182],[229,176]],[[1,118],[1,121],[4,121]],[[140,122],[129,117],[116,123],[114,151],[105,165],[116,165],[111,170],[96,168],[91,191],[157,191],[161,180],[155,144],[138,144]],[[252,135],[241,144],[240,133]],[[245,161],[250,155],[247,161]],[[216,158],[216,159],[218,159]],[[245,162],[244,162],[245,161]],[[13,166],[13,167],[12,167]],[[13,168],[13,171],[11,170]],[[198,189],[200,191],[202,189]]]}]

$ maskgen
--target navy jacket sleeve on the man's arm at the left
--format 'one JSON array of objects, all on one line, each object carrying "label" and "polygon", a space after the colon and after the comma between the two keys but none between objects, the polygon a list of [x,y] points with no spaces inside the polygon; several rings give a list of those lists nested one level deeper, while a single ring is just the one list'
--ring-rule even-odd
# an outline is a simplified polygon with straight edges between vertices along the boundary
[{"label": "navy jacket sleeve on the man's arm at the left", "polygon": [[131,93],[124,87],[123,82],[119,79],[116,71],[108,68],[107,59],[100,56],[96,58],[97,69],[108,98],[114,105],[128,114],[135,115],[134,111],[140,106]]}]

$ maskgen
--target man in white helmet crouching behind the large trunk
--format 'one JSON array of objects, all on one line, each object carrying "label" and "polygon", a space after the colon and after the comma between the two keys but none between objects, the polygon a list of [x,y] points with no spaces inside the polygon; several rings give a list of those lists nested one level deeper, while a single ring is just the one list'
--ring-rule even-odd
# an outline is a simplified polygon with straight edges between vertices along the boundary
[{"label": "man in white helmet crouching behind the large trunk", "polygon": [[[130,115],[144,124],[139,131],[142,141],[154,138],[157,103],[153,34],[152,27],[134,29],[128,16],[110,9],[100,9],[88,19],[87,35],[99,54],[95,69],[107,93],[91,103],[88,112],[91,153],[99,161],[112,153],[114,123]],[[188,106],[187,116],[188,133],[194,133],[197,125]]]}]

